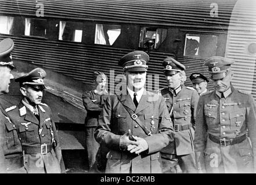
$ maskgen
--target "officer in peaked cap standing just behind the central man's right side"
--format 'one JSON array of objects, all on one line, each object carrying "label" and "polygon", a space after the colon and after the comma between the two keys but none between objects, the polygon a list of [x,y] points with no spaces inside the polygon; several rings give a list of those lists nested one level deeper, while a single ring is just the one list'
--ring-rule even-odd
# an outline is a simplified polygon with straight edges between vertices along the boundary
[{"label": "officer in peaked cap standing just behind the central man's right side", "polygon": [[181,85],[185,66],[172,57],[163,61],[167,88],[160,90],[170,113],[175,130],[175,142],[161,150],[164,173],[196,173],[192,128],[195,122],[199,95],[190,87]]}]

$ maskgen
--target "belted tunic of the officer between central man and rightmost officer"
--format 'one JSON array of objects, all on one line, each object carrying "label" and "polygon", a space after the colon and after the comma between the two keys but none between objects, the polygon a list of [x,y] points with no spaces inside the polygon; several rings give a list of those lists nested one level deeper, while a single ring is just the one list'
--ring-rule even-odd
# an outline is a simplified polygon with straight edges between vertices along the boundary
[{"label": "belted tunic of the officer between central man and rightmost officer", "polygon": [[[170,116],[176,129],[175,142],[170,143],[161,152],[178,156],[193,153],[194,129],[192,126],[195,124],[198,93],[193,88],[181,86],[178,94],[171,92],[169,88],[164,88],[161,90],[161,95],[165,99],[168,111],[172,109]],[[187,128],[188,125],[190,125],[189,129],[178,131],[178,129]]]}]

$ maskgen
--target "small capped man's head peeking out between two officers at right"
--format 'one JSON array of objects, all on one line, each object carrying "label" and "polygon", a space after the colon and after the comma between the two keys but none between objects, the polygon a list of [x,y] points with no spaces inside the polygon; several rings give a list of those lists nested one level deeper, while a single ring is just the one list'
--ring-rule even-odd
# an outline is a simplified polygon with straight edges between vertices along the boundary
[{"label": "small capped man's head peeking out between two officers at right", "polygon": [[207,92],[207,83],[209,82],[207,77],[205,77],[201,73],[192,73],[189,76],[189,79],[191,80],[194,89],[198,92],[199,95]]}]

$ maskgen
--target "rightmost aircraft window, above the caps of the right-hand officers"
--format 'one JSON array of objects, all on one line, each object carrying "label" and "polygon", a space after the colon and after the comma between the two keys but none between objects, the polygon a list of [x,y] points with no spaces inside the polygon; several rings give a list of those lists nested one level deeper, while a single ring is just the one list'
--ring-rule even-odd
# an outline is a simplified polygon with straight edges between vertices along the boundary
[{"label": "rightmost aircraft window, above the caps of the right-hand officers", "polygon": [[217,35],[186,34],[184,56],[212,57],[217,47]]}]

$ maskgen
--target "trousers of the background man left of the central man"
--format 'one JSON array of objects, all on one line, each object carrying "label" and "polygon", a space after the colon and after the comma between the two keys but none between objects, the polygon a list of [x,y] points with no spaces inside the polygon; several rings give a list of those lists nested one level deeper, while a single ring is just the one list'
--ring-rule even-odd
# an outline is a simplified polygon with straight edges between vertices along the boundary
[{"label": "trousers of the background man left of the central man", "polygon": [[86,127],[85,128],[85,137],[86,137],[86,149],[88,154],[88,164],[89,164],[89,172],[93,173],[94,170],[94,164],[95,164],[95,158],[96,154],[99,149],[99,143],[96,142],[94,138],[96,127]]}]

